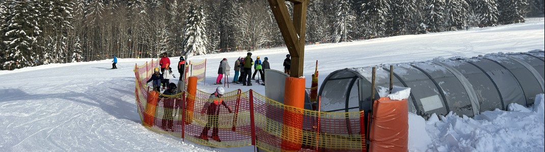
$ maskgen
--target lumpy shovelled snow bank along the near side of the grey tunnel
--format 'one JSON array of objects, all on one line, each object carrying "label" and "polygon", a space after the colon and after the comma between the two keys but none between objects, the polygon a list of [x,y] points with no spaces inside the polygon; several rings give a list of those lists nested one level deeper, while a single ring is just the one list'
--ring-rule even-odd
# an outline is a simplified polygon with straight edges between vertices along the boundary
[{"label": "lumpy shovelled snow bank along the near side of the grey tunnel", "polygon": [[485,111],[473,119],[450,112],[424,123],[409,113],[409,151],[544,151],[543,96],[536,96],[533,107],[510,104],[508,111]]}]

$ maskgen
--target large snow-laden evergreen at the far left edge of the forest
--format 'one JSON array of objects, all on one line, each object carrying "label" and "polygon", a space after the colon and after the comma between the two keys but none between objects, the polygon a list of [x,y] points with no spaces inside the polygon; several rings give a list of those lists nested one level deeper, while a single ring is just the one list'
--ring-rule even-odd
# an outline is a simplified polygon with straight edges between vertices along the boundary
[{"label": "large snow-laden evergreen at the far left edge of the forest", "polygon": [[27,0],[21,0],[15,3],[14,11],[10,15],[7,33],[5,36],[8,41],[4,41],[8,46],[6,62],[2,63],[4,69],[23,68],[34,66],[32,43],[35,40],[34,27],[35,20],[31,14],[32,8]]}]

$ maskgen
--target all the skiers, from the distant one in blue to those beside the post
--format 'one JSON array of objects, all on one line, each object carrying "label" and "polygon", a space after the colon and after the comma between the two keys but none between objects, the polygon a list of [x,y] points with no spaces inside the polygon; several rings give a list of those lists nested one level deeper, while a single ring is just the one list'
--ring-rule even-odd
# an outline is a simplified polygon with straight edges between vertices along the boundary
[{"label": "all the skiers, from the distant one in blue to those beside the post", "polygon": [[[117,58],[114,55],[114,62],[112,64],[113,68],[117,68],[115,64],[117,63]],[[173,95],[176,93],[179,93],[180,90],[177,90],[178,87],[174,83],[170,83],[170,75],[172,74],[172,68],[170,67],[170,59],[167,56],[167,53],[162,54],[162,58],[159,61],[159,67],[155,67],[153,69],[154,73],[152,74],[152,77],[147,81],[147,83],[150,83],[153,81],[153,89],[155,91],[165,90],[162,94],[165,95]],[[286,59],[284,59],[284,73],[289,74],[290,69],[290,55],[286,55]],[[183,80],[185,78],[185,67],[187,63],[185,62],[183,56],[180,56],[180,61],[178,62],[178,72],[180,73],[180,80]],[[252,74],[252,66],[255,71]],[[264,58],[263,61],[261,61],[260,57],[257,56],[256,60],[254,61],[252,59],[252,53],[248,52],[246,54],[245,58],[238,58],[235,61],[234,64],[234,71],[235,75],[233,78],[232,83],[240,84],[242,83],[245,86],[251,86],[251,80],[256,80],[256,74],[259,72],[258,78],[260,80],[265,81],[265,75],[264,75],[264,69],[270,69],[269,65],[269,59],[267,57]],[[218,76],[216,79],[216,84],[222,84],[221,79],[223,78],[223,75],[229,75],[229,71],[231,71],[231,67],[229,66],[227,59],[223,58],[220,61],[220,67],[218,68]],[[240,74],[239,74],[240,73]],[[174,77],[174,75],[172,75]],[[174,77],[175,78],[175,77]],[[247,78],[247,79],[246,79]],[[162,89],[161,89],[162,86]],[[227,104],[223,101],[223,94],[225,93],[225,88],[222,86],[218,86],[214,93],[210,94],[209,99],[207,100],[207,103],[204,104],[203,109],[201,110],[201,114],[207,115],[207,124],[204,126],[203,131],[201,132],[201,135],[198,136],[202,140],[208,141],[208,131],[210,129],[213,129],[211,138],[215,141],[221,142],[219,134],[219,109],[220,104],[225,106],[225,108],[228,110],[229,113],[231,113],[231,108],[227,106]],[[176,103],[174,103],[174,100],[168,100],[165,96],[159,96],[159,98],[164,99],[164,115],[162,117],[161,121],[161,128],[165,131],[172,130],[173,125],[173,118],[172,113],[174,106]]]}]

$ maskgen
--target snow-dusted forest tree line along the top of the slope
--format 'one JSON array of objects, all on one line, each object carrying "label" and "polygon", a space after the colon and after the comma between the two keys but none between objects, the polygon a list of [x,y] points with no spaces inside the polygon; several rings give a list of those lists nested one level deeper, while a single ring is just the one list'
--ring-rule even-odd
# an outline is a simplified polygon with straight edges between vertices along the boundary
[{"label": "snow-dusted forest tree line along the top of the slope", "polygon": [[[290,3],[286,3],[288,8]],[[543,0],[311,0],[306,42],[520,23]],[[283,45],[267,0],[3,0],[0,69]]]}]

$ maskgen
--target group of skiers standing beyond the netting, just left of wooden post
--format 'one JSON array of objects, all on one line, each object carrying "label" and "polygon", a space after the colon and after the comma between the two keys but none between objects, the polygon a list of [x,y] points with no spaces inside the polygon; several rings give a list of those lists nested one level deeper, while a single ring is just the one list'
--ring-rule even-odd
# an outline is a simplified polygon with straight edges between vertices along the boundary
[{"label": "group of skiers standing beyond the netting, just left of wooden post", "polygon": [[[284,63],[283,63],[284,73],[286,74],[290,73],[289,72],[290,65],[291,65],[290,55],[287,54],[286,59],[284,59]],[[252,66],[254,69],[253,74],[252,74]],[[217,75],[215,84],[223,84],[221,82],[221,79],[223,78],[223,75],[229,75],[230,69],[231,67],[228,64],[227,59],[223,58],[223,60],[220,61],[220,67],[218,68],[218,71],[217,71],[218,75]],[[245,58],[237,58],[237,60],[235,61],[235,64],[234,64],[235,75],[234,75],[232,83],[237,83],[237,84],[242,83],[245,86],[251,86],[252,85],[251,80],[256,80],[256,74],[259,73],[257,83],[259,83],[259,80],[261,80],[263,82],[262,84],[265,85],[265,74],[264,74],[265,69],[270,69],[269,58],[265,57],[264,60],[261,61],[260,57],[257,56],[256,60],[254,61],[252,59],[252,53],[248,52],[246,53]]]}]

